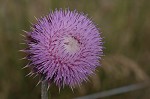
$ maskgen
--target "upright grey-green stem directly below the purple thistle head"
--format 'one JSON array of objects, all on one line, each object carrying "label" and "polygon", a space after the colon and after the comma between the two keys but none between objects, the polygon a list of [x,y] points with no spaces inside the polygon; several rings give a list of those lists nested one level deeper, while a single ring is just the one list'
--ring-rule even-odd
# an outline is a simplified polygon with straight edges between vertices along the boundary
[{"label": "upright grey-green stem directly below the purple thistle head", "polygon": [[43,80],[41,85],[41,99],[48,99],[48,83]]}]

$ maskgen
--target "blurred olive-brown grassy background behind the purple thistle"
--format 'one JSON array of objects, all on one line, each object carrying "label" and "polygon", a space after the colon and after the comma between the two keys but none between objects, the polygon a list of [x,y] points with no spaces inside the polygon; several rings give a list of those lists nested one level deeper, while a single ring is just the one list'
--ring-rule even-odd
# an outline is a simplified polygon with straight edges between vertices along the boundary
[{"label": "blurred olive-brown grassy background behind the purple thistle", "polygon": [[[102,67],[81,88],[59,89],[52,85],[52,99],[72,99],[131,84],[150,76],[150,0],[0,0],[0,99],[40,99],[39,78],[25,77],[29,69],[20,60],[24,34],[34,18],[55,8],[87,13],[104,37]],[[99,99],[99,98],[97,98]],[[100,99],[150,99],[150,87]]]}]

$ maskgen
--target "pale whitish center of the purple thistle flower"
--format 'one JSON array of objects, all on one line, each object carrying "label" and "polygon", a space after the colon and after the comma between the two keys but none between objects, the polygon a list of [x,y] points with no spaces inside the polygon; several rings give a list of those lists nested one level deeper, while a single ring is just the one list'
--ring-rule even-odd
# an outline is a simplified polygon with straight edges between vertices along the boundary
[{"label": "pale whitish center of the purple thistle flower", "polygon": [[79,42],[74,37],[64,38],[64,47],[70,53],[76,53],[79,50]]}]

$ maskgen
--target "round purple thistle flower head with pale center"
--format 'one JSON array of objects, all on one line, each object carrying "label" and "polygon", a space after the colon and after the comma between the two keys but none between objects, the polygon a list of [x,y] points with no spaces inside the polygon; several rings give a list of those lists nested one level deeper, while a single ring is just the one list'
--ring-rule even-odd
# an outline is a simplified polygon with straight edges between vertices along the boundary
[{"label": "round purple thistle flower head with pale center", "polygon": [[26,39],[24,51],[32,73],[59,88],[80,85],[100,66],[102,38],[83,13],[69,9],[50,12],[37,19]]}]

